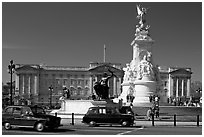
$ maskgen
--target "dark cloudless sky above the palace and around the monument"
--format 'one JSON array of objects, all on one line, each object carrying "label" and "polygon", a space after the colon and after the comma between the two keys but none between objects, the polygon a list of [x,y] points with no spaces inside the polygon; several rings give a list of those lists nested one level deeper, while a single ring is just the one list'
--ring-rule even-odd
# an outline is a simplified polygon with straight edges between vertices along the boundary
[{"label": "dark cloudless sky above the palace and around the monument", "polygon": [[15,64],[84,66],[132,60],[136,5],[148,8],[154,63],[192,69],[202,82],[201,2],[3,2],[2,82]]}]

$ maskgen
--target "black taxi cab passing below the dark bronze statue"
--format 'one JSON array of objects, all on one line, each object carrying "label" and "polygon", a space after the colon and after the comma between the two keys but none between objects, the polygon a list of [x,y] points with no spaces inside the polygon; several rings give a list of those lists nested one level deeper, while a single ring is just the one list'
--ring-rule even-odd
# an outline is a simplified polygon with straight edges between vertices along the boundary
[{"label": "black taxi cab passing below the dark bronze statue", "polygon": [[90,126],[102,124],[120,124],[122,126],[132,126],[134,116],[121,114],[117,108],[113,107],[91,107],[84,115],[82,122]]}]

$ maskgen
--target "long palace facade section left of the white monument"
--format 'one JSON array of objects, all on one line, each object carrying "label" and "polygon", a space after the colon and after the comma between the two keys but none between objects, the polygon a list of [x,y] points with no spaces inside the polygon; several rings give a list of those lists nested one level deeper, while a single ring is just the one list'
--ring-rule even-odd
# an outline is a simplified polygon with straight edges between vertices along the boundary
[{"label": "long palace facade section left of the white monument", "polygon": [[[65,67],[43,65],[16,65],[15,102],[16,104],[59,104],[59,98],[66,87],[70,99],[91,99],[96,95],[94,83],[102,78],[104,72],[111,70],[117,77],[109,80],[109,96],[121,93],[123,71],[117,63],[90,63],[89,67]],[[50,90],[52,87],[52,90]]]}]

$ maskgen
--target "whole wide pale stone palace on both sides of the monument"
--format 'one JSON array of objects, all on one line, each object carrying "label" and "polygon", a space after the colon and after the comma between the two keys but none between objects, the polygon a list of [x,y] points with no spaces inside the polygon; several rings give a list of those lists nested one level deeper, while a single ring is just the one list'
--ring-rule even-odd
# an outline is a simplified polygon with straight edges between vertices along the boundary
[{"label": "whole wide pale stone palace on both sides of the monument", "polygon": [[[59,104],[59,98],[66,88],[69,89],[69,99],[92,99],[92,95],[96,95],[94,83],[108,70],[117,76],[109,80],[109,97],[118,97],[122,93],[124,76],[120,63],[91,62],[88,67],[16,64],[14,103],[52,103],[54,106]],[[166,102],[170,97],[190,96],[190,68],[159,67],[159,71],[163,101]]]}]

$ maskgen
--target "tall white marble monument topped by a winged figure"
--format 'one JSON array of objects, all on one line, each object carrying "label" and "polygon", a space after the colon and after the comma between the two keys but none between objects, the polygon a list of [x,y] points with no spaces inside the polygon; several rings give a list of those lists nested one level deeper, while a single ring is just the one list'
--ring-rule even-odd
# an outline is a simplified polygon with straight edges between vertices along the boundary
[{"label": "tall white marble monument topped by a winged figure", "polygon": [[[152,57],[152,44],[154,40],[150,37],[150,25],[146,23],[147,8],[137,5],[137,19],[135,38],[131,46],[133,48],[133,58],[124,68],[124,81],[122,93],[119,99],[128,102],[130,97],[134,97],[134,105],[147,105],[149,96],[160,91],[160,75],[158,68],[154,65]],[[131,102],[132,103],[132,102]],[[143,104],[144,103],[144,104]]]}]

